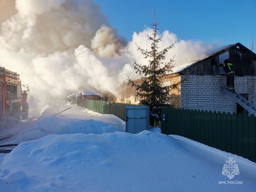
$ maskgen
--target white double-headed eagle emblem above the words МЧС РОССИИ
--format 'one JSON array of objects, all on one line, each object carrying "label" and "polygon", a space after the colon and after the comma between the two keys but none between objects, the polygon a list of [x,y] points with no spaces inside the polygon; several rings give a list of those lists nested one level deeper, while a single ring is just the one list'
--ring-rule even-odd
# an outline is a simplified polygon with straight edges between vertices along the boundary
[{"label": "white double-headed eagle emblem above the words \u041c\u0427\u0421 \u0420\u041e\u0421\u0421\u0418\u0418", "polygon": [[229,161],[226,161],[227,164],[223,166],[222,175],[227,176],[231,180],[235,175],[239,175],[239,169],[238,165],[234,164],[236,161],[233,161],[231,156],[228,159]]}]

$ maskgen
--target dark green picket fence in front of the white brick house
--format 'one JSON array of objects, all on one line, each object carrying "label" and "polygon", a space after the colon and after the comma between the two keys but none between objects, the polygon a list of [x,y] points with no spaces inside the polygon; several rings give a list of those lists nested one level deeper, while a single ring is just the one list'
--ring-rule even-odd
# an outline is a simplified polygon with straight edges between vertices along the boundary
[{"label": "dark green picket fence in front of the white brick house", "polygon": [[225,112],[162,108],[161,132],[180,135],[256,162],[256,117]]}]

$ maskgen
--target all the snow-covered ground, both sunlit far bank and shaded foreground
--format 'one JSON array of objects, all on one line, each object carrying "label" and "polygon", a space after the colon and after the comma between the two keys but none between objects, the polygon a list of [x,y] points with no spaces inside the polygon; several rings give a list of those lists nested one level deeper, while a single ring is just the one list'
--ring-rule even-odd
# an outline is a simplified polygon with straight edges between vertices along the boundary
[{"label": "all the snow-covered ground, both sunlit far bank and shaded foreground", "polygon": [[[0,145],[19,143],[0,154],[0,191],[255,191],[256,163],[240,156],[157,128],[126,133],[116,116],[67,102],[31,112],[0,130]],[[222,175],[230,156],[231,180]]]}]

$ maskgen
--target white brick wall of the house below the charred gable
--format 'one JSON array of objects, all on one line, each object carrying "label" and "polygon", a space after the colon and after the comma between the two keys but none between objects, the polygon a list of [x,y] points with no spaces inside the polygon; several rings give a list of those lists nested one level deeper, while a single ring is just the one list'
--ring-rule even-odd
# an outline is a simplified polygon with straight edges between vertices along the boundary
[{"label": "white brick wall of the house below the charred gable", "polygon": [[[180,79],[187,78],[178,90],[171,92],[173,100],[170,103],[176,107],[212,110],[221,112],[236,112],[236,102],[225,92],[222,92],[222,85],[226,85],[226,76],[172,76],[171,84]],[[165,81],[165,80],[164,80]],[[249,94],[248,100],[256,105],[256,77],[244,76],[235,77],[236,92]]]}]

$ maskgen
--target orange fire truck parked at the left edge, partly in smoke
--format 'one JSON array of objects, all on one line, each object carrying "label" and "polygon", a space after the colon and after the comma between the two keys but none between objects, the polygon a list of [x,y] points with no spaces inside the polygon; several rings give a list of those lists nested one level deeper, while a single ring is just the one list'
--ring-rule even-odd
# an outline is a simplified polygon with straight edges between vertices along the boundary
[{"label": "orange fire truck parked at the left edge, partly in smoke", "polygon": [[[0,124],[7,120],[28,118],[28,85],[22,85],[20,75],[0,67]],[[21,86],[26,90],[22,91]]]}]

